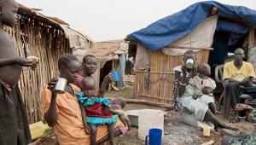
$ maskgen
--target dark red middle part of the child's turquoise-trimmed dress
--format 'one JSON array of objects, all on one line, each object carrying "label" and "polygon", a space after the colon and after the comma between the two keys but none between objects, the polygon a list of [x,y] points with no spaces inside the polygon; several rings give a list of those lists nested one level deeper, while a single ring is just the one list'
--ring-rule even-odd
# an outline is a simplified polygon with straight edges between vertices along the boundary
[{"label": "dark red middle part of the child's turquoise-trimmed dress", "polygon": [[87,117],[99,117],[99,118],[112,118],[112,113],[107,113],[104,110],[104,105],[102,103],[95,103],[91,106],[84,107]]}]

